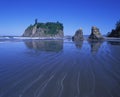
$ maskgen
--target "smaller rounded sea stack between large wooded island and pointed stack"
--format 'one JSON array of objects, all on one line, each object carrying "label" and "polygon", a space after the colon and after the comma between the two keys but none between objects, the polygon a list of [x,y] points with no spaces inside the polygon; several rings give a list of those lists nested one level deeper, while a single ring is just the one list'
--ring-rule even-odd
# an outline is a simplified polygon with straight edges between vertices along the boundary
[{"label": "smaller rounded sea stack between large wooded island and pointed stack", "polygon": [[79,29],[75,32],[75,35],[72,37],[73,41],[81,41],[83,40],[83,31],[82,29]]}]

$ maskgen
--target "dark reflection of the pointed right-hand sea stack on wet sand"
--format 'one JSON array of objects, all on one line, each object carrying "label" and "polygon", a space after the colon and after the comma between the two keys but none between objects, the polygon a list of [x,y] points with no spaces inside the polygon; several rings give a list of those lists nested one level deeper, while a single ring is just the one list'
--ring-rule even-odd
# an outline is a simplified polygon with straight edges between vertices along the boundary
[{"label": "dark reflection of the pointed right-hand sea stack on wet sand", "polygon": [[97,53],[103,41],[88,41],[91,46],[91,53]]}]

